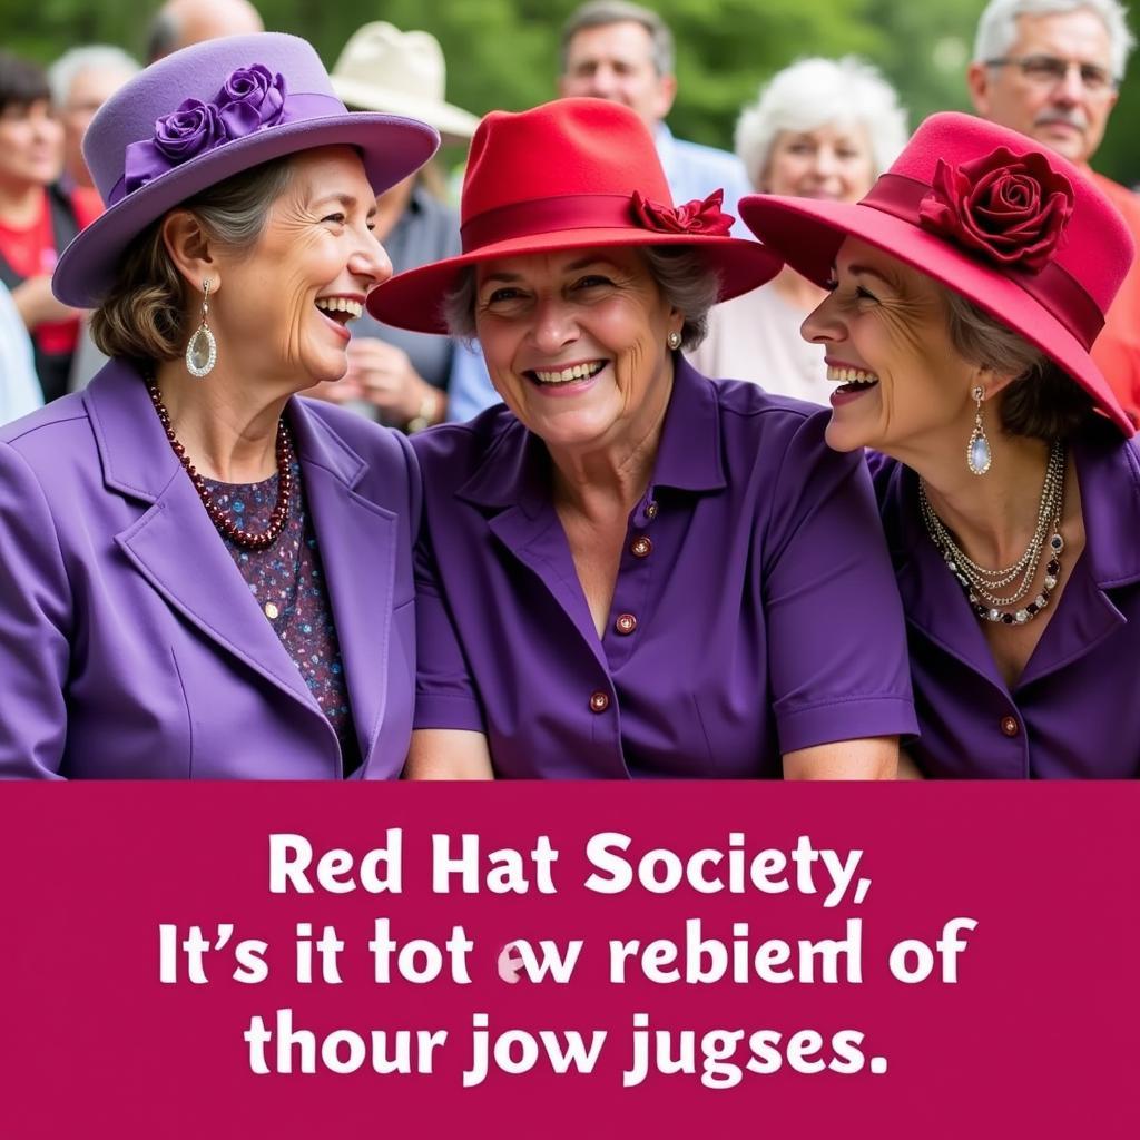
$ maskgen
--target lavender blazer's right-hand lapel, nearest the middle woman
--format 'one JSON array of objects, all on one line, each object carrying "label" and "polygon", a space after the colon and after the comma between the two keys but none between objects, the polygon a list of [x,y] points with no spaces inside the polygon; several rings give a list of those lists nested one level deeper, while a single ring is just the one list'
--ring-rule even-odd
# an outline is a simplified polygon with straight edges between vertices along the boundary
[{"label": "lavender blazer's right-hand lapel, nearest the middle woman", "polygon": [[358,492],[366,462],[304,400],[293,401],[291,422],[364,772],[388,701],[398,520]]}]

